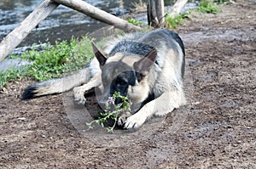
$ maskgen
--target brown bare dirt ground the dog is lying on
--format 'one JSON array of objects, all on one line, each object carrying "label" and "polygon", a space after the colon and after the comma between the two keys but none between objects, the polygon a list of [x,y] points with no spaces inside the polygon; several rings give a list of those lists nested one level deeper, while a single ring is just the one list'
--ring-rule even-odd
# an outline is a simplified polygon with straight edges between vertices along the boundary
[{"label": "brown bare dirt ground the dog is lying on", "polygon": [[138,132],[88,132],[70,93],[21,101],[32,82],[10,83],[0,93],[0,168],[256,168],[256,3],[222,9],[177,29],[189,104]]}]

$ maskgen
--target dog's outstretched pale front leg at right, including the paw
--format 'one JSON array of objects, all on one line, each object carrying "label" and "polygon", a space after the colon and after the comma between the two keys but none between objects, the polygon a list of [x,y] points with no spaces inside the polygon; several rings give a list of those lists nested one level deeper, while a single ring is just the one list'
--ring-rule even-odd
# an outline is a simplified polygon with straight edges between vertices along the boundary
[{"label": "dog's outstretched pale front leg at right, including the paw", "polygon": [[183,104],[186,104],[183,89],[163,93],[159,98],[145,104],[136,114],[128,117],[125,128],[137,130],[152,115],[166,115]]}]

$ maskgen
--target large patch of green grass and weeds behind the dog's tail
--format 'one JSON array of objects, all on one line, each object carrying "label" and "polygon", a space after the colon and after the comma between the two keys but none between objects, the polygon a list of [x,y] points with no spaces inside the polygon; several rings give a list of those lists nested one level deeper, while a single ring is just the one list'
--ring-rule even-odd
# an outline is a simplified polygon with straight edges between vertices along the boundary
[{"label": "large patch of green grass and weeds behind the dog's tail", "polygon": [[70,42],[42,45],[41,51],[32,47],[20,56],[11,55],[12,58],[32,60],[34,64],[24,66],[22,70],[11,69],[1,72],[0,89],[7,82],[15,81],[22,76],[31,76],[33,80],[45,81],[79,70],[94,57],[90,42],[91,39],[88,37],[82,37],[80,40],[73,38]]}]

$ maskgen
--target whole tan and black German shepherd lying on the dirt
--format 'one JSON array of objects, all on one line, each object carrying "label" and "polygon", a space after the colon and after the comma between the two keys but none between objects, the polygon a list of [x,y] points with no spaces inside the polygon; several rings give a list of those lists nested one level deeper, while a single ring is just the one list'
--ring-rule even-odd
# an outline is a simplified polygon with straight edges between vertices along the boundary
[{"label": "whole tan and black German shepherd lying on the dirt", "polygon": [[92,47],[96,58],[83,70],[33,84],[22,99],[73,89],[74,100],[85,104],[84,93],[96,88],[101,105],[119,92],[130,100],[131,112],[120,115],[118,124],[130,130],[137,130],[153,115],[166,115],[186,103],[185,51],[177,33],[165,29],[137,32],[106,42],[102,50],[93,42]]}]

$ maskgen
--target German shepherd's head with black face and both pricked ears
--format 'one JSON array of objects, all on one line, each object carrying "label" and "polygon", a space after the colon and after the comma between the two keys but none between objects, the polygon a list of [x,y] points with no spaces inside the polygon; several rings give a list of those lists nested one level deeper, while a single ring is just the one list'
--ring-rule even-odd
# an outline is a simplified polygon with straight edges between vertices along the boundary
[{"label": "German shepherd's head with black face and both pricked ears", "polygon": [[[137,111],[151,92],[150,70],[154,67],[157,51],[152,49],[145,56],[117,53],[109,57],[92,43],[94,54],[102,69],[102,84],[98,87],[99,104],[105,104],[113,93],[127,96],[131,111]],[[115,100],[119,104],[120,99]]]}]

